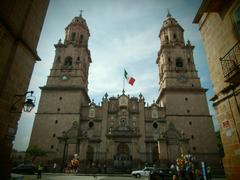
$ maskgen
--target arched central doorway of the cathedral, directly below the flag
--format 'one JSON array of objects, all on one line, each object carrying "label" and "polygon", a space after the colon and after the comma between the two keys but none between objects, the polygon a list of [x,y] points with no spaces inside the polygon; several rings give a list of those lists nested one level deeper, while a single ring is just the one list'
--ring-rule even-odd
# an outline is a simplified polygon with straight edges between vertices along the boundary
[{"label": "arched central doorway of the cathedral, directly below the flag", "polygon": [[131,167],[132,156],[126,143],[119,143],[117,153],[114,156],[114,167],[120,171],[126,171]]}]

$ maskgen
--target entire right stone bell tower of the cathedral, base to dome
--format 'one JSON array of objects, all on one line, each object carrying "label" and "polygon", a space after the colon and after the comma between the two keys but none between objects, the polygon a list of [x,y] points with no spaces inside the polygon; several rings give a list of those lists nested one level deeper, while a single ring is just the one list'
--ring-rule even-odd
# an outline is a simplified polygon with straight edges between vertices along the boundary
[{"label": "entire right stone bell tower of the cathedral, base to dome", "polygon": [[[157,103],[166,108],[166,129],[160,132],[164,135],[160,149],[165,148],[162,152],[167,152],[168,160],[189,152],[199,159],[212,154],[212,160],[216,160],[217,146],[207,104],[207,90],[201,87],[194,64],[194,46],[190,41],[185,43],[184,29],[169,12],[159,37],[161,47],[156,64],[160,94]],[[176,136],[172,137],[173,133],[169,132],[175,132]]]}]

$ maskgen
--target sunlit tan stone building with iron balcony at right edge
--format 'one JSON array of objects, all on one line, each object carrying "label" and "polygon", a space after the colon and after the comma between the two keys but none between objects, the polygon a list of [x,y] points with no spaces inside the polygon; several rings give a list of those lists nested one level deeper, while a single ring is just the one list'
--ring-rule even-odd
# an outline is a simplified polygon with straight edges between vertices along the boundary
[{"label": "sunlit tan stone building with iron balcony at right edge", "polygon": [[194,23],[199,24],[212,79],[212,97],[220,125],[228,179],[240,176],[240,4],[237,0],[203,1]]}]

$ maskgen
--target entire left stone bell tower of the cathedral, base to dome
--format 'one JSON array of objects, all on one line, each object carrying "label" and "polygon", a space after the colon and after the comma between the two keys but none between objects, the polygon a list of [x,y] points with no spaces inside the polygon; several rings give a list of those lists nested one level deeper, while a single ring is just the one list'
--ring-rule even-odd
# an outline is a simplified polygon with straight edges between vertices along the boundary
[{"label": "entire left stone bell tower of the cathedral, base to dome", "polygon": [[[41,87],[41,98],[35,116],[31,145],[37,145],[53,157],[63,146],[58,137],[71,127],[79,127],[83,106],[90,102],[88,96],[88,70],[91,61],[88,49],[90,33],[86,20],[74,17],[65,28],[65,39],[55,44],[55,58],[47,79]],[[47,131],[46,131],[47,130]],[[79,142],[69,139],[68,154],[79,153]],[[66,151],[66,149],[65,149]],[[66,153],[66,152],[65,152]]]}]

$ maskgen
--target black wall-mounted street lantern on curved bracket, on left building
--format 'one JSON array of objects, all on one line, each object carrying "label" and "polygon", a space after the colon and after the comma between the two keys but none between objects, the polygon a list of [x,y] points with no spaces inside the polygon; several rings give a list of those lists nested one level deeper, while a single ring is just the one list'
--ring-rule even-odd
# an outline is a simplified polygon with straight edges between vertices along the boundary
[{"label": "black wall-mounted street lantern on curved bracket, on left building", "polygon": [[[15,95],[16,101],[13,103],[13,105],[10,108],[10,112],[16,113],[17,112],[17,107],[16,105],[24,98],[26,97],[26,100],[22,104],[22,108],[24,112],[31,112],[31,110],[35,107],[35,102],[36,102],[36,97],[33,96],[34,92],[33,91],[27,91],[24,94],[18,94]],[[30,94],[30,95],[28,95]]]}]

